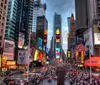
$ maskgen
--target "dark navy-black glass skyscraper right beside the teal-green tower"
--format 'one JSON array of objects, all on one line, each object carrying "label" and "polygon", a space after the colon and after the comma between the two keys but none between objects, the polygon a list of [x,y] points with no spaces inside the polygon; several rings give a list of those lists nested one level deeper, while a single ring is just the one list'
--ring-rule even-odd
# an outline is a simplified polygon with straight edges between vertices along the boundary
[{"label": "dark navy-black glass skyscraper right beside the teal-green tower", "polygon": [[18,0],[15,29],[15,45],[18,45],[20,35],[25,45],[29,43],[29,33],[32,28],[33,0]]}]

